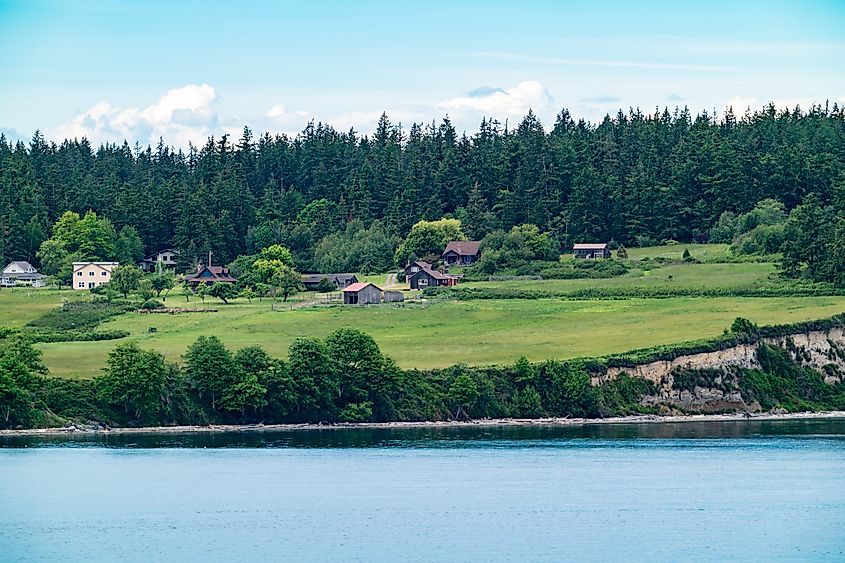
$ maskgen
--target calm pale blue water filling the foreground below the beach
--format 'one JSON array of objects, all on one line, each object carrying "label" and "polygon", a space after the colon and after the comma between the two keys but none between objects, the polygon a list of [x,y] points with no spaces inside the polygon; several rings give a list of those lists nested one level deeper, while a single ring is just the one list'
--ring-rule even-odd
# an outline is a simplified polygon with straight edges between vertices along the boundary
[{"label": "calm pale blue water filling the foreground below the beach", "polygon": [[0,438],[0,561],[845,560],[845,421]]}]

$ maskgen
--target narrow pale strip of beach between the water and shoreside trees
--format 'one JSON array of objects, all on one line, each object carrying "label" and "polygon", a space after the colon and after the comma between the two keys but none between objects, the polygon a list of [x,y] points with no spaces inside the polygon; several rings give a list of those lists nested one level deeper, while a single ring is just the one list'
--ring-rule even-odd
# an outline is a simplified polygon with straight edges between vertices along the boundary
[{"label": "narrow pale strip of beach between the water and shoreside trees", "polygon": [[95,436],[111,434],[222,434],[227,432],[291,432],[315,430],[390,430],[408,428],[485,428],[485,427],[555,427],[589,426],[599,424],[666,424],[685,422],[776,422],[789,420],[845,419],[845,411],[798,412],[798,413],[731,413],[691,415],[630,415],[609,418],[494,418],[470,421],[423,421],[423,422],[340,422],[335,424],[210,424],[205,426],[144,426],[140,428],[30,428],[22,430],[0,430],[5,436]]}]

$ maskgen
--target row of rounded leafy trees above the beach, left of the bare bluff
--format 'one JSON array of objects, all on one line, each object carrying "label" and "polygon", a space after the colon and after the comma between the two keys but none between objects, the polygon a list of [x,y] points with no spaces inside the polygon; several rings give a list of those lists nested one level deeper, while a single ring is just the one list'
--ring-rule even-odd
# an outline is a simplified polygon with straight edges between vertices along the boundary
[{"label": "row of rounded leafy trees above the beach, left of the bare bluff", "polygon": [[639,412],[637,401],[653,391],[627,377],[594,388],[583,365],[524,358],[502,367],[403,370],[351,328],[298,339],[286,360],[201,336],[178,362],[130,341],[109,353],[93,380],[46,375],[27,336],[0,327],[0,428],[68,419],[149,426],[597,417]]}]

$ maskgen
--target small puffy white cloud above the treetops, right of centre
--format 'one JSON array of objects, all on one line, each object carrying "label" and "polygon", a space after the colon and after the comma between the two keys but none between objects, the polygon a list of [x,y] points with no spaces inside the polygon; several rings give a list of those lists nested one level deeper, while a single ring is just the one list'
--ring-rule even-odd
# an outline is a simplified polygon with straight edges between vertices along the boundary
[{"label": "small puffy white cloud above the treetops, right of centre", "polygon": [[512,88],[489,88],[482,94],[476,90],[465,96],[442,101],[437,107],[450,114],[456,112],[489,117],[523,117],[529,109],[538,114],[553,112],[554,99],[543,84],[528,80]]}]

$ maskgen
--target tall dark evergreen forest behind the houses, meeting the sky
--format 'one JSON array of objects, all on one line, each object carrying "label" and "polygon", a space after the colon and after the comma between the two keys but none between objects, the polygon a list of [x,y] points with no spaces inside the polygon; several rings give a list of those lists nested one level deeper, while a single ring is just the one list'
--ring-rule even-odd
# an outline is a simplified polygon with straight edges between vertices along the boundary
[{"label": "tall dark evergreen forest behind the houses, meeting the sky", "polygon": [[383,115],[372,135],[245,128],[186,151],[0,136],[0,259],[37,262],[50,226],[88,210],[113,224],[113,254],[137,255],[140,240],[147,254],[178,248],[183,266],[282,244],[300,271],[382,269],[415,223],[444,217],[478,240],[533,224],[563,246],[703,242],[723,213],[767,198],[786,212],[810,195],[829,206],[844,174],[837,105],[721,118],[632,109],[599,123],[564,109],[548,131],[529,112],[471,135],[448,118],[404,128]]}]

